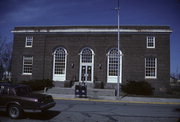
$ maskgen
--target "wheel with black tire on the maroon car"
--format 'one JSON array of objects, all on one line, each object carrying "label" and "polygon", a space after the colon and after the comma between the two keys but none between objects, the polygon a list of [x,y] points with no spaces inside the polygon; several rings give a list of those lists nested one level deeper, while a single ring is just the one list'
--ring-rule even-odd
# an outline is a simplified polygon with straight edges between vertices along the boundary
[{"label": "wheel with black tire on the maroon car", "polygon": [[21,109],[20,106],[18,105],[10,105],[8,107],[8,115],[12,118],[12,119],[17,119],[20,118],[20,116],[22,115],[23,110]]}]

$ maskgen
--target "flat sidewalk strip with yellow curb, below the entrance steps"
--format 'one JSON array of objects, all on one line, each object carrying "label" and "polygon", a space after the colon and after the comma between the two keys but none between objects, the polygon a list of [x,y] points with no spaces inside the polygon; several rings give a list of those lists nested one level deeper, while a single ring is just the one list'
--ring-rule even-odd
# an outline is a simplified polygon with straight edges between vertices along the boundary
[{"label": "flat sidewalk strip with yellow curb, below the entrance steps", "polygon": [[94,102],[116,102],[116,103],[141,103],[141,104],[169,104],[180,105],[180,99],[175,98],[150,98],[150,97],[121,97],[115,96],[88,96],[87,98],[79,98],[70,94],[52,94],[54,99],[59,100],[79,100],[79,101],[94,101]]}]

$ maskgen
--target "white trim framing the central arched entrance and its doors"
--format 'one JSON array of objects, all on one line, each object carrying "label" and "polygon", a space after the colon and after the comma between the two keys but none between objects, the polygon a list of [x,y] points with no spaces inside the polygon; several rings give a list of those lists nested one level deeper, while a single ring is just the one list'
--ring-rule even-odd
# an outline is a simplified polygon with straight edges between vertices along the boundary
[{"label": "white trim framing the central arched entrance and its doors", "polygon": [[[90,49],[91,50],[91,52],[92,52],[92,63],[82,63],[82,51],[85,49],[85,48],[88,48],[88,49]],[[81,50],[81,52],[80,52],[80,68],[79,68],[79,81],[80,82],[82,82],[82,80],[81,80],[81,74],[82,74],[82,66],[91,66],[91,72],[92,72],[92,74],[91,74],[91,81],[85,81],[85,82],[93,82],[93,80],[94,80],[94,51],[91,49],[91,48],[89,48],[89,47],[85,47],[85,48],[83,48],[82,50]]]}]

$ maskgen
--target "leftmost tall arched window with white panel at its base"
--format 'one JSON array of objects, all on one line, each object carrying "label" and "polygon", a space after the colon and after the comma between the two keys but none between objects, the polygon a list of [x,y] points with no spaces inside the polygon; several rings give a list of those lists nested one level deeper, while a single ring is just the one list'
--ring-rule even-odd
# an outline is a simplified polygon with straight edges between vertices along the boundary
[{"label": "leftmost tall arched window with white panel at its base", "polygon": [[53,80],[65,81],[67,51],[64,48],[59,47],[54,51],[53,55]]}]

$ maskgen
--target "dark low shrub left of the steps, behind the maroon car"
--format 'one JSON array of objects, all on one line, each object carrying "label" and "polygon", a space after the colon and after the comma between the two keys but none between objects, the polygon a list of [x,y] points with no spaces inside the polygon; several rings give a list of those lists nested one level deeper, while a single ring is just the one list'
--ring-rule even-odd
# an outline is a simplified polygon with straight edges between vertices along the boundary
[{"label": "dark low shrub left of the steps, behind the maroon car", "polygon": [[45,87],[51,88],[54,86],[53,81],[48,79],[23,81],[21,84],[28,85],[33,91],[43,90]]}]

